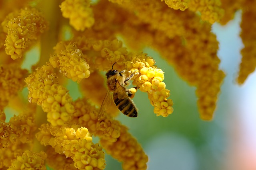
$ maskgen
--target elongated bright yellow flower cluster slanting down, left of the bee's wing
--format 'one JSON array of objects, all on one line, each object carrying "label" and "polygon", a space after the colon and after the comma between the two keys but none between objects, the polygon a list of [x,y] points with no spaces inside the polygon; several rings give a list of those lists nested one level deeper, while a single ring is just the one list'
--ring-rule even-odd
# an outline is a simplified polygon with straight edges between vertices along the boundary
[{"label": "elongated bright yellow flower cluster slanting down, left of the bee's wing", "polygon": [[28,84],[28,100],[37,102],[47,113],[47,121],[54,126],[63,126],[74,113],[72,98],[68,90],[58,84],[56,74],[50,64],[37,68],[25,79]]}]

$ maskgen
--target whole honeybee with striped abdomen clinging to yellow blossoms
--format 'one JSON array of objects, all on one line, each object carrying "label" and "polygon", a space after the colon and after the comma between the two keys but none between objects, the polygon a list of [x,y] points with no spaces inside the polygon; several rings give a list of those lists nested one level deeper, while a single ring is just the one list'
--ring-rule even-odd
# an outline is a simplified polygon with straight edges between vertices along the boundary
[{"label": "whole honeybee with striped abdomen clinging to yellow blossoms", "polygon": [[[124,115],[127,115],[129,117],[138,116],[137,109],[130,98],[134,94],[129,89],[125,88],[125,86],[128,85],[128,81],[134,76],[135,72],[133,72],[132,74],[130,74],[130,76],[126,78],[122,74],[125,72],[125,70],[118,71],[113,69],[114,64],[112,65],[112,69],[106,72],[108,91],[100,107],[98,120],[100,119],[100,117],[104,112],[105,105],[106,103],[108,103],[107,101],[111,99],[111,94],[112,94],[112,99],[116,104],[116,107]],[[134,87],[134,88],[137,89],[137,87]]]}]

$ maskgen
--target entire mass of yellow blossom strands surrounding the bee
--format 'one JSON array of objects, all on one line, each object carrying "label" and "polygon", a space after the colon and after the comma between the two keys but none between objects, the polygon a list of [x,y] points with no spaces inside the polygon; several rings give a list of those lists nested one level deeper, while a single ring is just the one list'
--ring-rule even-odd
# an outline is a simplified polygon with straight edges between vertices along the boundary
[{"label": "entire mass of yellow blossom strands surrounding the bee", "polygon": [[[101,72],[116,63],[114,69],[134,74],[132,93],[146,92],[152,111],[167,117],[174,109],[164,71],[141,53],[150,46],[196,86],[200,117],[210,120],[224,79],[211,24],[226,24],[243,10],[237,78],[243,84],[256,67],[255,6],[251,0],[0,1],[0,169],[103,170],[105,150],[124,170],[146,170],[148,156],[115,119],[120,111],[113,102],[98,120],[107,92]],[[40,57],[30,71],[24,63],[32,47]],[[67,79],[79,83],[83,98],[72,99]],[[8,106],[19,114],[6,120]]]}]

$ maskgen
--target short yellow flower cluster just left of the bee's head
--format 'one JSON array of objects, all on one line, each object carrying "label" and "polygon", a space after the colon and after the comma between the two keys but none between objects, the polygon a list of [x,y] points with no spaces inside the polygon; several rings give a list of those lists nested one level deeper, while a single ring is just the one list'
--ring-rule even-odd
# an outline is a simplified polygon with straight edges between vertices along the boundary
[{"label": "short yellow flower cluster just left of the bee's head", "polygon": [[54,68],[74,82],[80,82],[90,76],[89,65],[84,59],[81,49],[75,43],[60,42],[54,47],[56,55],[50,56],[50,63]]}]

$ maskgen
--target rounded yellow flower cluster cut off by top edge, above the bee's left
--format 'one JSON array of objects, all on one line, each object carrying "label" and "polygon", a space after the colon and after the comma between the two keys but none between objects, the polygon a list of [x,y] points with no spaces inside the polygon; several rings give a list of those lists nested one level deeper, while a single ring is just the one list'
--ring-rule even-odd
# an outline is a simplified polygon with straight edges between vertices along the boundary
[{"label": "rounded yellow flower cluster cut off by top edge, above the bee's left", "polygon": [[64,18],[70,19],[70,25],[77,31],[91,27],[94,24],[91,0],[64,0],[60,10]]}]

